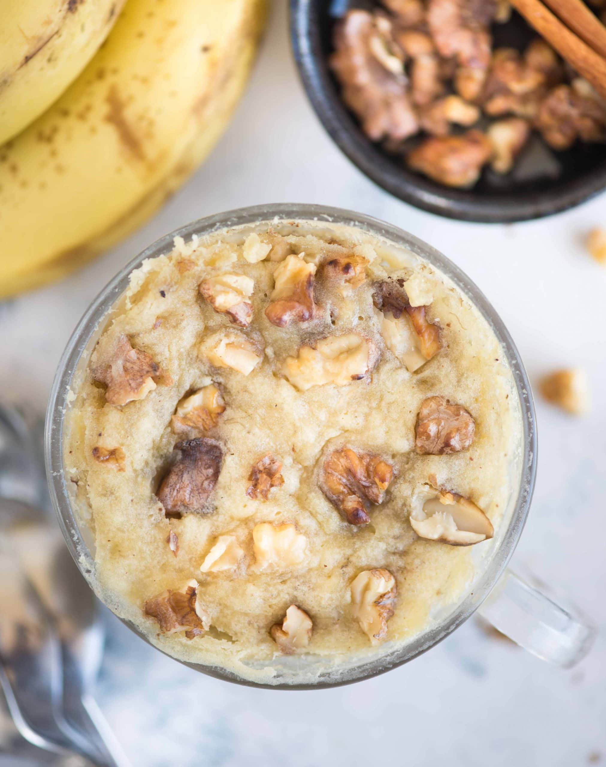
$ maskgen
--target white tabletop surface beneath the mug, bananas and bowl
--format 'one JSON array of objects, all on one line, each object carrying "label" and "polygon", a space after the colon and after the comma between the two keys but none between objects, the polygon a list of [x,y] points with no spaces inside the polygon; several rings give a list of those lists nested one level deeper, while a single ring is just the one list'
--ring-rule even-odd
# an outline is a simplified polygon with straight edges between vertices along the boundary
[{"label": "white tabletop surface beneath the mug, bananas and bowl", "polygon": [[386,676],[278,693],[206,679],[108,616],[99,697],[133,763],[606,763],[606,269],[582,246],[589,228],[604,225],[606,196],[552,219],[503,226],[440,219],[388,196],[319,125],[291,59],[285,7],[276,3],[251,86],[203,169],[114,252],[58,285],[0,304],[2,398],[44,409],[78,318],[144,246],[199,216],[262,202],[357,209],[414,232],[453,258],[495,304],[532,380],[553,367],[587,369],[587,416],[537,403],[538,483],[515,558],[573,594],[602,633],[591,656],[565,672],[469,621]]}]

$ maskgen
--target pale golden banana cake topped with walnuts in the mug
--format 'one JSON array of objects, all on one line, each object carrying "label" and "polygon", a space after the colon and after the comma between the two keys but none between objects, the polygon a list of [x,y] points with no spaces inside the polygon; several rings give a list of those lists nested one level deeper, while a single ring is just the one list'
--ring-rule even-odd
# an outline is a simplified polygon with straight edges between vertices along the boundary
[{"label": "pale golden banana cake topped with walnuts in the mug", "polygon": [[515,486],[489,324],[353,226],[176,238],[130,276],[71,400],[97,592],[156,647],[257,682],[427,630]]}]

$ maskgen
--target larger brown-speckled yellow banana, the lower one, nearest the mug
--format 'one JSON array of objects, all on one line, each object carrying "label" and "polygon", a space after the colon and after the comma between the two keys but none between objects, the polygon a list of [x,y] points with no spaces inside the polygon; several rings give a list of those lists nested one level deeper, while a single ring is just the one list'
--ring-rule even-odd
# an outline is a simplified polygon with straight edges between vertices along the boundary
[{"label": "larger brown-speckled yellow banana, the lower one, nearest the mug", "polygon": [[[8,5],[24,2],[44,4]],[[64,2],[106,19],[120,6]],[[127,0],[68,89],[0,146],[0,297],[93,258],[183,183],[229,121],[264,18],[265,0]]]}]

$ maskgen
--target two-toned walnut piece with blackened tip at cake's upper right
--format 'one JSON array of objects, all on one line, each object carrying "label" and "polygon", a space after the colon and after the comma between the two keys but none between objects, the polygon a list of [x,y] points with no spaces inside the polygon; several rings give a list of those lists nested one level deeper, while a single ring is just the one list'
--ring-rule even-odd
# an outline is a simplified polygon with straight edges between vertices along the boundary
[{"label": "two-toned walnut piece with blackened tip at cake's upper right", "polygon": [[410,305],[404,284],[403,280],[377,283],[373,303],[380,312],[380,334],[387,348],[413,373],[440,351],[440,328],[427,321],[427,306]]}]

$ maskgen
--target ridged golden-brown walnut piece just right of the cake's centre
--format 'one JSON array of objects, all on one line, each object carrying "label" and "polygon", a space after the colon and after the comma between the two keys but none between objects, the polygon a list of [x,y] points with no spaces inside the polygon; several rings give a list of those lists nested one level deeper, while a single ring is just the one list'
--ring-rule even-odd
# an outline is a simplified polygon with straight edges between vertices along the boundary
[{"label": "ridged golden-brown walnut piece just right of the cake's centre", "polygon": [[384,501],[393,476],[394,467],[380,456],[344,447],[324,461],[320,489],[350,525],[366,525],[371,503]]}]

